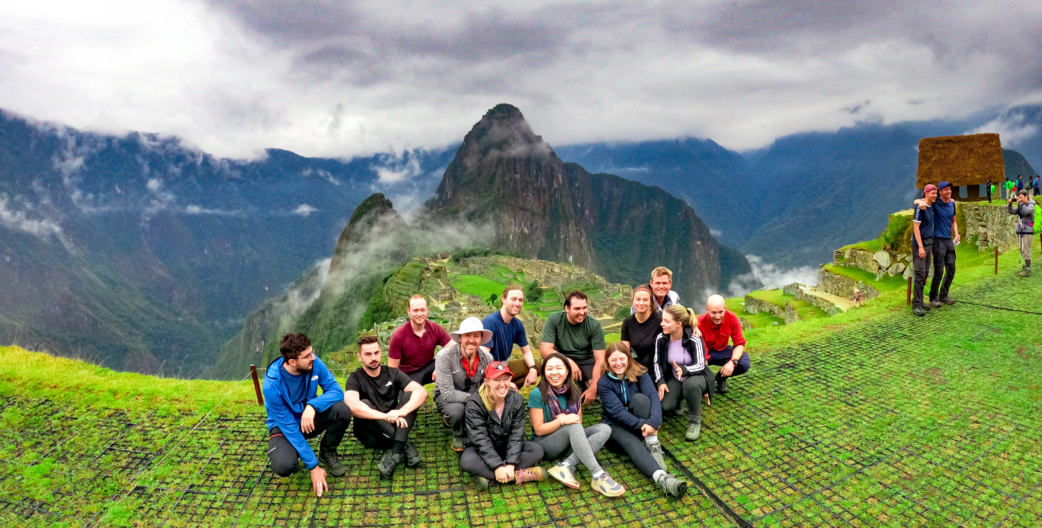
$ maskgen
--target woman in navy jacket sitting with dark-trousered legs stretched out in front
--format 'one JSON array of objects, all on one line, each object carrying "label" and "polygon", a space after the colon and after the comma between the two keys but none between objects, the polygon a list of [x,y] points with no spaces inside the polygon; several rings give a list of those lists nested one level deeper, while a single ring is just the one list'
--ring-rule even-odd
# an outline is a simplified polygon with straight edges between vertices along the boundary
[{"label": "woman in navy jacket sitting with dark-trousered legs stretched out in front", "polygon": [[604,355],[597,395],[602,406],[601,423],[612,428],[609,447],[629,455],[641,473],[651,477],[663,492],[683,498],[688,483],[666,472],[659,443],[662,404],[651,376],[629,357],[629,348],[622,342],[613,343]]}]

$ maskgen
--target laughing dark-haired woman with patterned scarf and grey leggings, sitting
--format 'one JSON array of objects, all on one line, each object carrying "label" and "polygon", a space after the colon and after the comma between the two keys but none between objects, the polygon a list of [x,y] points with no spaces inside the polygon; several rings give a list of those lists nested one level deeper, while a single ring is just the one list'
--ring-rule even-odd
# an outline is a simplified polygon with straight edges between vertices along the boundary
[{"label": "laughing dark-haired woman with patterned scarf and grey leggings, sitting", "polygon": [[547,458],[557,457],[572,448],[571,456],[550,468],[551,477],[578,489],[575,467],[581,461],[593,475],[591,487],[605,497],[618,497],[626,489],[613,480],[594,457],[594,453],[612,435],[612,428],[604,424],[582,428],[580,396],[579,387],[572,381],[572,369],[567,358],[557,352],[546,356],[543,379],[528,395],[532,439],[543,447]]}]

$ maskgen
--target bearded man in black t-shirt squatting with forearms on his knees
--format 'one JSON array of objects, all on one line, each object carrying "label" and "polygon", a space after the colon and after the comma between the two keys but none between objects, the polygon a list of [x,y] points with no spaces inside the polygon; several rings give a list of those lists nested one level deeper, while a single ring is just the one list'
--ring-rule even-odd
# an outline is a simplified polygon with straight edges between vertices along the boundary
[{"label": "bearded man in black t-shirt squatting with forearms on his knees", "polygon": [[403,455],[410,468],[423,461],[408,433],[416,409],[427,401],[427,391],[398,369],[380,364],[375,336],[363,335],[357,345],[362,367],[347,377],[344,403],[351,408],[358,442],[370,449],[390,449],[376,469],[381,477],[391,478]]}]

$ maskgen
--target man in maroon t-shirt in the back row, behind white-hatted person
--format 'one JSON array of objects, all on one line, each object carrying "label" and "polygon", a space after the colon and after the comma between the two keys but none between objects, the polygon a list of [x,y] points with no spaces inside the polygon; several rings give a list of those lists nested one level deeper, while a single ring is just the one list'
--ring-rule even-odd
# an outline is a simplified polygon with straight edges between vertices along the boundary
[{"label": "man in maroon t-shirt in the back row, behind white-hatted person", "polygon": [[388,367],[405,373],[421,385],[435,382],[435,347],[449,344],[442,325],[427,321],[427,300],[422,295],[408,298],[408,323],[391,335]]}]

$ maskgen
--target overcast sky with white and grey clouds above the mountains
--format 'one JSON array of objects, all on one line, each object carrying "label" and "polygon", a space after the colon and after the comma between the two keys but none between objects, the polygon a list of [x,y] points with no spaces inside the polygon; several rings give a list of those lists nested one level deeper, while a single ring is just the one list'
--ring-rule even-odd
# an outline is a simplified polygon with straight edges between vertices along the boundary
[{"label": "overcast sky with white and grey clouds above the mountains", "polygon": [[1042,2],[15,1],[0,107],[221,156],[462,141],[517,105],[552,145],[747,150],[1042,102]]}]

